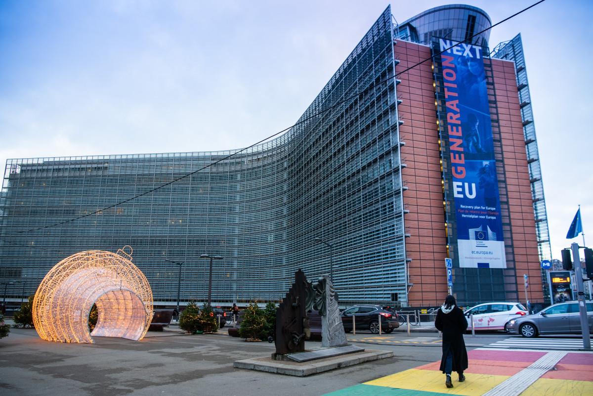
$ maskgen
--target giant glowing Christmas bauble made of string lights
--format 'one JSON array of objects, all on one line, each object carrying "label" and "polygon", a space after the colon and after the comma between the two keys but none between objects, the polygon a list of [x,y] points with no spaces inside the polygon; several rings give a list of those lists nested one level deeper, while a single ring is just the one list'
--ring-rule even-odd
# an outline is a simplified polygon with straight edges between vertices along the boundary
[{"label": "giant glowing Christmas bauble made of string lights", "polygon": [[[33,299],[33,323],[47,341],[90,343],[91,336],[141,340],[152,320],[152,290],[130,254],[88,250],[56,264]],[[126,248],[124,247],[124,249]],[[93,333],[88,314],[97,305]]]}]

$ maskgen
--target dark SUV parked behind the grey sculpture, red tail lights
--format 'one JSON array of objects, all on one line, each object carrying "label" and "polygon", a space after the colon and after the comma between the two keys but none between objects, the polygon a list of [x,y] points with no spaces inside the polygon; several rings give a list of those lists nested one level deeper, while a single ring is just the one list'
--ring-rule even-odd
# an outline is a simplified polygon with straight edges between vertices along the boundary
[{"label": "dark SUV parked behind the grey sculpture, red tail lights", "polygon": [[393,311],[384,309],[381,305],[354,305],[343,311],[342,324],[346,333],[352,331],[352,317],[356,321],[356,330],[370,330],[373,334],[379,334],[379,318],[382,333],[389,334],[400,327]]}]

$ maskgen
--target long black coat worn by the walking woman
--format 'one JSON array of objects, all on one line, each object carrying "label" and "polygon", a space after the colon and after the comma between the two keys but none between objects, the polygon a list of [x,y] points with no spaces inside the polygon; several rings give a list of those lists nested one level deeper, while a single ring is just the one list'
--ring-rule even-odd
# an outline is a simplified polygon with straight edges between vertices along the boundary
[{"label": "long black coat worn by the walking woman", "polygon": [[455,306],[451,312],[445,314],[441,308],[436,313],[435,327],[443,333],[443,356],[441,357],[441,371],[445,373],[445,359],[449,349],[453,353],[453,371],[463,372],[467,369],[466,343],[463,333],[467,330],[467,320],[463,311]]}]

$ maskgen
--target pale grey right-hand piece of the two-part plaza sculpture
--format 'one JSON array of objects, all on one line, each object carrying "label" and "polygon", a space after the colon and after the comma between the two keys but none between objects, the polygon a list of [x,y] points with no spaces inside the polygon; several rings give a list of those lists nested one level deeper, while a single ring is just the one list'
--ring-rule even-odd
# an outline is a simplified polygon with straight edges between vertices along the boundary
[{"label": "pale grey right-hand piece of the two-part plaza sculpture", "polygon": [[315,292],[313,308],[321,315],[321,346],[345,345],[348,340],[330,276],[321,276],[317,283],[313,283],[312,288]]}]

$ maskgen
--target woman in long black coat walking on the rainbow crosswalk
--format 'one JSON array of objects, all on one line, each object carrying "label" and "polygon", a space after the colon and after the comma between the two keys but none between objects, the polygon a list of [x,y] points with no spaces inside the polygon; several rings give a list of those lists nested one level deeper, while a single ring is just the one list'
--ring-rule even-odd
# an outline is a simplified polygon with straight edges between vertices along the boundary
[{"label": "woman in long black coat walking on the rainbow crosswalk", "polygon": [[466,343],[463,333],[467,330],[467,320],[454,296],[447,296],[445,304],[436,313],[435,327],[443,333],[443,356],[441,371],[447,375],[445,385],[452,388],[451,372],[459,374],[459,382],[466,381],[463,371],[467,369]]}]

